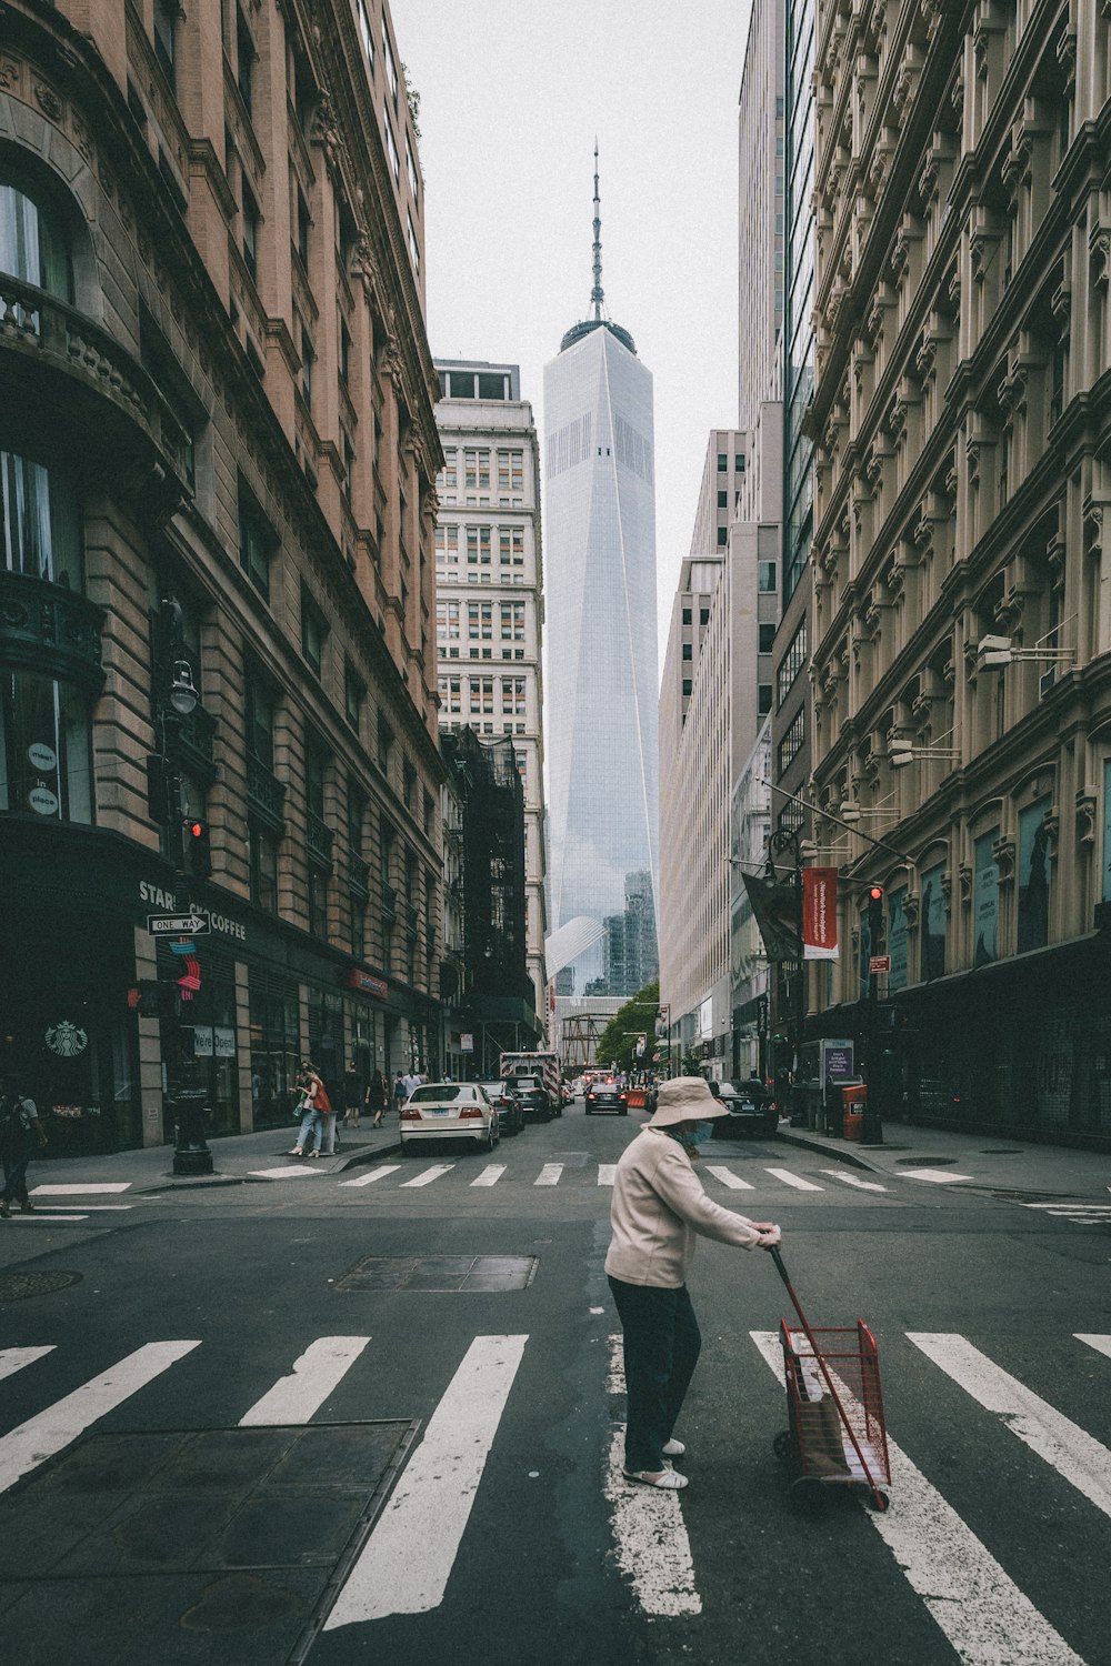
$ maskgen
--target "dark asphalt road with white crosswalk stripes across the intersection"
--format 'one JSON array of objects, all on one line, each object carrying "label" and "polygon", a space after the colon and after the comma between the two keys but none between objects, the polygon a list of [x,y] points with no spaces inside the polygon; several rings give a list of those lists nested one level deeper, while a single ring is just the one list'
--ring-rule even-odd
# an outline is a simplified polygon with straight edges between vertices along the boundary
[{"label": "dark asphalt road with white crosswalk stripes across the intersection", "polygon": [[[10,1271],[78,1274],[0,1309],[12,1658],[1111,1663],[1108,1228],[771,1140],[703,1148],[718,1201],[781,1223],[811,1324],[874,1331],[891,1508],[793,1486],[773,1453],[786,1291],[770,1256],[713,1243],[680,1501],[620,1478],[601,1268],[606,1171],[636,1126],[575,1106],[493,1156],[7,1228],[37,1235]],[[213,1433],[140,1508],[127,1489],[167,1473],[170,1431]],[[320,1486],[298,1491],[288,1443],[310,1436],[300,1474]],[[245,1573],[240,1549],[213,1573],[243,1501],[227,1473],[255,1488],[267,1464],[237,1519],[263,1523],[270,1561]]]}]

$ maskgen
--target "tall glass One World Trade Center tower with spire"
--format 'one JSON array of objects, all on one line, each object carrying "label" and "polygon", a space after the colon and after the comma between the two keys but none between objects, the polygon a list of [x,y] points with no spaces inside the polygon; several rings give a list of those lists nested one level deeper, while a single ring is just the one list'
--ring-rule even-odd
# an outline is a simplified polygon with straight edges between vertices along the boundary
[{"label": "tall glass One World Trade Center tower with spire", "polygon": [[596,147],[591,308],[545,367],[550,971],[626,996],[660,965],[653,392],[603,313]]}]

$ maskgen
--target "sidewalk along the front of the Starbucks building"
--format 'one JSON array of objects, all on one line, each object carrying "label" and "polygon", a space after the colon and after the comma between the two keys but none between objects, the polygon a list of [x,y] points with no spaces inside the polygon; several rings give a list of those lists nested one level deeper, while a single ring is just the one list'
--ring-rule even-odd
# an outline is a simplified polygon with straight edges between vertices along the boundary
[{"label": "sidewalk along the front of the Starbucks building", "polygon": [[313,1173],[336,1175],[345,1168],[360,1163],[373,1163],[378,1158],[396,1155],[398,1118],[396,1111],[386,1115],[381,1128],[371,1128],[365,1118],[358,1128],[338,1128],[336,1140],[340,1150],[335,1156],[296,1158],[290,1156],[296,1123],[288,1128],[267,1128],[255,1135],[225,1135],[210,1138],[212,1175],[175,1175],[173,1146],[147,1146],[142,1151],[113,1151],[108,1156],[62,1156],[32,1158],[27,1185],[67,1186],[80,1181],[108,1185],[127,1181],[132,1193],[142,1191],[192,1191],[202,1186],[240,1186],[265,1185],[257,1178],[258,1170],[273,1168],[306,1168]]}]

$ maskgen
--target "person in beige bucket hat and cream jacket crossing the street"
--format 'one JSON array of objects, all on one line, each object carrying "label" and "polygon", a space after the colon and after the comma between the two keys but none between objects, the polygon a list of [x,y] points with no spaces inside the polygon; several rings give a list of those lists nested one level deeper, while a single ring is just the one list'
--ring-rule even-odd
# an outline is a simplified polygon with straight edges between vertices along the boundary
[{"label": "person in beige bucket hat and cream jacket crossing the street", "polygon": [[665,1461],[681,1458],[675,1439],[701,1333],[686,1273],[696,1235],[741,1250],[773,1250],[780,1228],[721,1208],[695,1173],[698,1146],[713,1118],[728,1116],[701,1076],[661,1081],[656,1110],[616,1166],[606,1274],[625,1333],[625,1474],[678,1491],[686,1476]]}]

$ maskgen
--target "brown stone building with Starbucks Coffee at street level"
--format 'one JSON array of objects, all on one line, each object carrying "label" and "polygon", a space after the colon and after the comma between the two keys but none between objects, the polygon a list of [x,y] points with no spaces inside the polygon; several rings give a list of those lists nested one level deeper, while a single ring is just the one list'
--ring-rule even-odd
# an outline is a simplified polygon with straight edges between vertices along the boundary
[{"label": "brown stone building with Starbucks Coffee at street level", "polygon": [[0,383],[0,1068],[55,1150],[160,1143],[182,1088],[277,1121],[306,1053],[333,1091],[435,1068],[441,456],[388,7],[5,7]]}]

